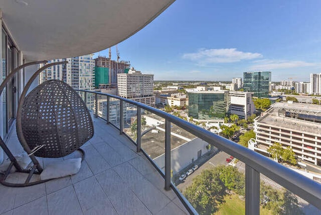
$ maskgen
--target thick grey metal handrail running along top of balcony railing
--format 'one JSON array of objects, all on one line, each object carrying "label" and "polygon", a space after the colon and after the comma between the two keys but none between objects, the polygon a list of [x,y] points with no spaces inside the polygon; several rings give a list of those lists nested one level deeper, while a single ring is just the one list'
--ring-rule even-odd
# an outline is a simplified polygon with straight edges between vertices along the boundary
[{"label": "thick grey metal handrail running along top of balcony railing", "polygon": [[[225,139],[221,136],[218,136],[214,133],[204,130],[196,125],[186,122],[171,114],[168,114],[161,110],[157,110],[154,107],[148,106],[146,104],[142,104],[137,101],[133,101],[117,95],[111,95],[108,93],[102,93],[102,92],[90,91],[90,90],[77,90],[77,91],[97,93],[97,94],[109,96],[112,98],[116,98],[116,99],[125,101],[127,103],[136,105],[137,107],[140,107],[155,115],[158,115],[166,119],[167,121],[181,127],[182,129],[185,129],[191,134],[201,138],[202,140],[215,145],[215,147],[217,147],[218,149],[244,162],[246,166],[249,167],[250,169],[257,171],[258,173],[264,174],[265,176],[277,182],[278,184],[285,187],[289,191],[293,192],[294,194],[308,201],[318,209],[321,209],[321,184],[289,168],[286,168],[257,152],[249,150],[248,148],[245,148],[237,143],[234,143],[228,139]],[[256,180],[256,176],[254,176],[254,180]]]}]

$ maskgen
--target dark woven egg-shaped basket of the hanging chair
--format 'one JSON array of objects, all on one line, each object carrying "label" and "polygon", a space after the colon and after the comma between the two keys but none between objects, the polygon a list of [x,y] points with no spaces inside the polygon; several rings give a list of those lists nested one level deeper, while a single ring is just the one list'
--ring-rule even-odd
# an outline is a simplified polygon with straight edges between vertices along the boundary
[{"label": "dark woven egg-shaped basket of the hanging chair", "polygon": [[94,134],[86,104],[72,87],[60,80],[45,81],[26,96],[21,121],[27,145],[30,149],[39,147],[34,153],[38,157],[69,155]]}]

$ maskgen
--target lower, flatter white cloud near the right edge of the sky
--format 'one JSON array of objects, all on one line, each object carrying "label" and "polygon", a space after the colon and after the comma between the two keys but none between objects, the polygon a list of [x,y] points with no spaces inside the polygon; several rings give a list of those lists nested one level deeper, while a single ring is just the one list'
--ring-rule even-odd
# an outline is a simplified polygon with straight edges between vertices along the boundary
[{"label": "lower, flatter white cloud near the right edge of the sky", "polygon": [[251,70],[272,70],[272,69],[288,69],[296,67],[317,66],[316,63],[308,63],[304,61],[290,60],[258,60],[255,65],[250,67]]}]

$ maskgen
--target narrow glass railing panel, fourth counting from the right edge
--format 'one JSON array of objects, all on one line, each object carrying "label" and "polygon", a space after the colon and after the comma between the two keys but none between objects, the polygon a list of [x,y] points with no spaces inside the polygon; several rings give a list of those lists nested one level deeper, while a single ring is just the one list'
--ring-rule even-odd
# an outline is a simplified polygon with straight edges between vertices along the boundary
[{"label": "narrow glass railing panel, fourth counting from the right edge", "polygon": [[[141,121],[141,127],[144,122]],[[137,139],[137,106],[124,102],[123,132],[134,142]]]}]

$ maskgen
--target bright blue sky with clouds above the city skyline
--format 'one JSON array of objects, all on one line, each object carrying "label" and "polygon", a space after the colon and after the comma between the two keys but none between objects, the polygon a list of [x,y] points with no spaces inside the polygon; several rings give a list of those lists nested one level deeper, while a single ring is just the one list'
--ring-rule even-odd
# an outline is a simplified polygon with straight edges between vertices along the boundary
[{"label": "bright blue sky with clouds above the city skyline", "polygon": [[263,70],[272,81],[309,81],[321,73],[320,10],[319,0],[177,0],[118,49],[154,80],[232,80]]}]

